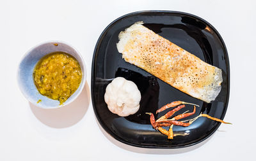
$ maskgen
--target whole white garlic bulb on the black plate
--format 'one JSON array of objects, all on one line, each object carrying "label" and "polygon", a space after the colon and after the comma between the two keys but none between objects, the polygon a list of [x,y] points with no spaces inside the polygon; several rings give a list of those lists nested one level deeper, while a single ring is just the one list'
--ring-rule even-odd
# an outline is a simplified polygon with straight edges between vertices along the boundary
[{"label": "whole white garlic bulb on the black plate", "polygon": [[119,116],[129,116],[139,110],[141,94],[135,83],[117,77],[107,86],[104,99],[109,111]]}]

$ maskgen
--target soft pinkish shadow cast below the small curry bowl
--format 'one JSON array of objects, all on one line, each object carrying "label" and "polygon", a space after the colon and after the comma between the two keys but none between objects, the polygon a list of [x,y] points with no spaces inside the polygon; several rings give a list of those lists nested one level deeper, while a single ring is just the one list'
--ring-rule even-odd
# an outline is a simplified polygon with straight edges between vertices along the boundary
[{"label": "soft pinkish shadow cast below the small curry bowl", "polygon": [[67,106],[44,109],[35,106],[31,102],[29,102],[29,106],[40,122],[49,127],[60,129],[70,127],[79,122],[88,110],[90,100],[90,88],[86,81],[81,94]]}]

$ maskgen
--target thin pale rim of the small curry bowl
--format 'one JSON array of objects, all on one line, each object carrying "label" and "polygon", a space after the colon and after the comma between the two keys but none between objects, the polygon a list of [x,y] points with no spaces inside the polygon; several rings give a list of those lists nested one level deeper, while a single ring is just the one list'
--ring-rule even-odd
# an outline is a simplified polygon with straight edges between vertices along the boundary
[{"label": "thin pale rim of the small curry bowl", "polygon": [[[61,104],[61,105],[58,105],[58,106],[51,106],[51,107],[47,107],[45,108],[44,106],[41,106],[42,104],[35,104],[35,102],[31,101],[31,99],[28,97],[28,94],[26,94],[24,92],[24,90],[22,90],[22,85],[21,83],[19,82],[19,78],[20,78],[20,64],[22,63],[22,61],[24,60],[25,57],[27,57],[33,50],[35,50],[35,48],[37,48],[38,46],[41,46],[41,45],[45,45],[45,44],[48,44],[48,43],[62,43],[64,45],[67,45],[69,46],[70,48],[72,48],[76,53],[77,55],[81,58],[81,63],[83,64],[83,75],[82,75],[82,79],[83,81],[81,81],[79,87],[77,88],[78,92],[76,95],[74,95],[74,97],[72,97],[72,99],[65,103],[64,104]],[[70,53],[69,53],[70,54]],[[80,65],[81,67],[81,65]],[[82,67],[81,67],[82,68]],[[17,84],[19,86],[19,89],[20,89],[20,92],[22,93],[22,95],[24,95],[24,97],[29,101],[31,102],[33,105],[35,105],[36,107],[38,108],[43,108],[43,109],[55,109],[55,108],[61,108],[63,106],[67,106],[68,104],[70,104],[71,102],[73,102],[74,100],[77,99],[77,97],[81,94],[83,88],[84,88],[84,85],[86,83],[86,76],[87,76],[87,72],[86,72],[86,64],[84,62],[84,59],[83,59],[83,55],[81,55],[81,53],[72,45],[70,45],[69,43],[65,42],[65,41],[60,41],[60,40],[49,40],[49,41],[42,41],[41,43],[38,43],[37,45],[29,48],[29,50],[21,57],[20,59],[20,62],[19,62],[19,65],[17,66],[17,73],[16,73],[16,81],[17,81]],[[77,91],[76,90],[76,91]],[[46,96],[45,96],[46,97]]]}]

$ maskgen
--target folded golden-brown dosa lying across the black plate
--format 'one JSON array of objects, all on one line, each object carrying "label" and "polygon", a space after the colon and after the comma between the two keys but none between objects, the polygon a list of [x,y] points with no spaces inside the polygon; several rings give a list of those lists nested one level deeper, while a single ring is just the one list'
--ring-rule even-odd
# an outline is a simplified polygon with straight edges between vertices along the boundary
[{"label": "folded golden-brown dosa lying across the black plate", "polygon": [[197,99],[214,101],[221,90],[221,69],[207,64],[142,24],[136,22],[118,36],[116,46],[125,61]]}]

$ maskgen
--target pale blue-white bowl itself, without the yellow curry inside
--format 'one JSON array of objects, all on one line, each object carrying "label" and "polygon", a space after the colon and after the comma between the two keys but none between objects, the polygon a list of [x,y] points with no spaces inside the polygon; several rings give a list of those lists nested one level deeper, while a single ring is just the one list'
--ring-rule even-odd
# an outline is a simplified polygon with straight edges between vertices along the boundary
[{"label": "pale blue-white bowl itself, without the yellow curry inside", "polygon": [[[58,44],[58,46],[54,44]],[[81,70],[83,72],[81,83],[77,88],[76,92],[74,92],[74,94],[72,94],[67,99],[67,101],[65,101],[61,105],[59,101],[49,99],[48,97],[40,94],[33,80],[33,71],[38,60],[40,60],[48,53],[52,52],[69,53],[79,62]],[[18,67],[17,81],[22,94],[24,94],[29,102],[35,104],[35,106],[38,106],[40,108],[58,108],[70,104],[70,102],[74,101],[76,97],[81,93],[84,87],[84,83],[86,81],[86,67],[83,57],[79,52],[77,52],[76,49],[74,49],[74,47],[67,45],[67,43],[63,43],[62,41],[48,41],[33,47],[31,50],[28,51],[28,53],[26,53],[26,55],[24,55]],[[42,101],[38,102],[38,100]]]}]

